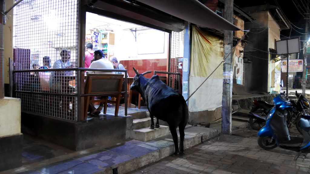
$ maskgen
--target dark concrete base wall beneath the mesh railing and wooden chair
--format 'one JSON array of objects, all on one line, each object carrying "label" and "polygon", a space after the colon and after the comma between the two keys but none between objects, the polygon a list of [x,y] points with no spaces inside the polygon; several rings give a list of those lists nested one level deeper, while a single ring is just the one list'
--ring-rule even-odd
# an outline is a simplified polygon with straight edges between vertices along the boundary
[{"label": "dark concrete base wall beneath the mesh railing and wooden chair", "polygon": [[94,118],[87,122],[74,122],[23,113],[21,118],[23,133],[72,150],[94,146],[111,147],[126,137],[127,117]]}]

